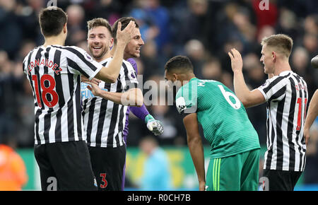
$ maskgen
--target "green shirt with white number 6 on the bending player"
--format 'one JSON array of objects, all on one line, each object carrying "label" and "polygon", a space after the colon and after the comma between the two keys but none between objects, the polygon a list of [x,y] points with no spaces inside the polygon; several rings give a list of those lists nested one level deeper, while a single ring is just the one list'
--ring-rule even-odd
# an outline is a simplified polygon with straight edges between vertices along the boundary
[{"label": "green shirt with white number 6 on the bending player", "polygon": [[204,137],[211,145],[211,158],[260,148],[245,107],[222,83],[192,78],[177,91],[176,106],[182,115],[196,112]]}]

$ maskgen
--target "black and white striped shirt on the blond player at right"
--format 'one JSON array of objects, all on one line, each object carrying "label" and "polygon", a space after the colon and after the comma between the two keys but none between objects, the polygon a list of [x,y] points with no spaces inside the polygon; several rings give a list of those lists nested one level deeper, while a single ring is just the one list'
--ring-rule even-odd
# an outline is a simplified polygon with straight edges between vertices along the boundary
[{"label": "black and white striped shirt on the blond player at right", "polygon": [[293,71],[283,71],[257,89],[267,101],[264,169],[303,171],[306,162],[306,82]]}]

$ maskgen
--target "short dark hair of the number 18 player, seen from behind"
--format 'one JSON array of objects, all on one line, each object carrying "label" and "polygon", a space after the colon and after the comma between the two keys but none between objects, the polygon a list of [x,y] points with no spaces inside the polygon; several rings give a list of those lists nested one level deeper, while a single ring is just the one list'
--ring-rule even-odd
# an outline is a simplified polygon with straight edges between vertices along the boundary
[{"label": "short dark hair of the number 18 player, seen from behind", "polygon": [[66,13],[57,6],[49,6],[40,11],[39,23],[45,37],[59,35],[66,22]]}]

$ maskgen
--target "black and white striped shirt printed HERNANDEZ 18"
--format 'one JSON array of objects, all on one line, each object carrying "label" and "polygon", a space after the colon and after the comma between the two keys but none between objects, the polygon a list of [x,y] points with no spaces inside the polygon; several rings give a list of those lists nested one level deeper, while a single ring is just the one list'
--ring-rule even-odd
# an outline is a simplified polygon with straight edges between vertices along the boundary
[{"label": "black and white striped shirt printed HERNANDEZ 18", "polygon": [[83,139],[81,74],[93,78],[102,66],[78,47],[40,46],[23,60],[33,89],[35,144]]}]

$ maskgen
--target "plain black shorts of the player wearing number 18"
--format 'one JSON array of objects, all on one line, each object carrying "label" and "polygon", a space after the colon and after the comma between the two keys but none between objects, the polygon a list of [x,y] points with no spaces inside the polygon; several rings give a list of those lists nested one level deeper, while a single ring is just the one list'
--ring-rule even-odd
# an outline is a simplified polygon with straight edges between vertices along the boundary
[{"label": "plain black shorts of the player wearing number 18", "polygon": [[35,144],[34,153],[42,191],[97,190],[85,141]]}]

